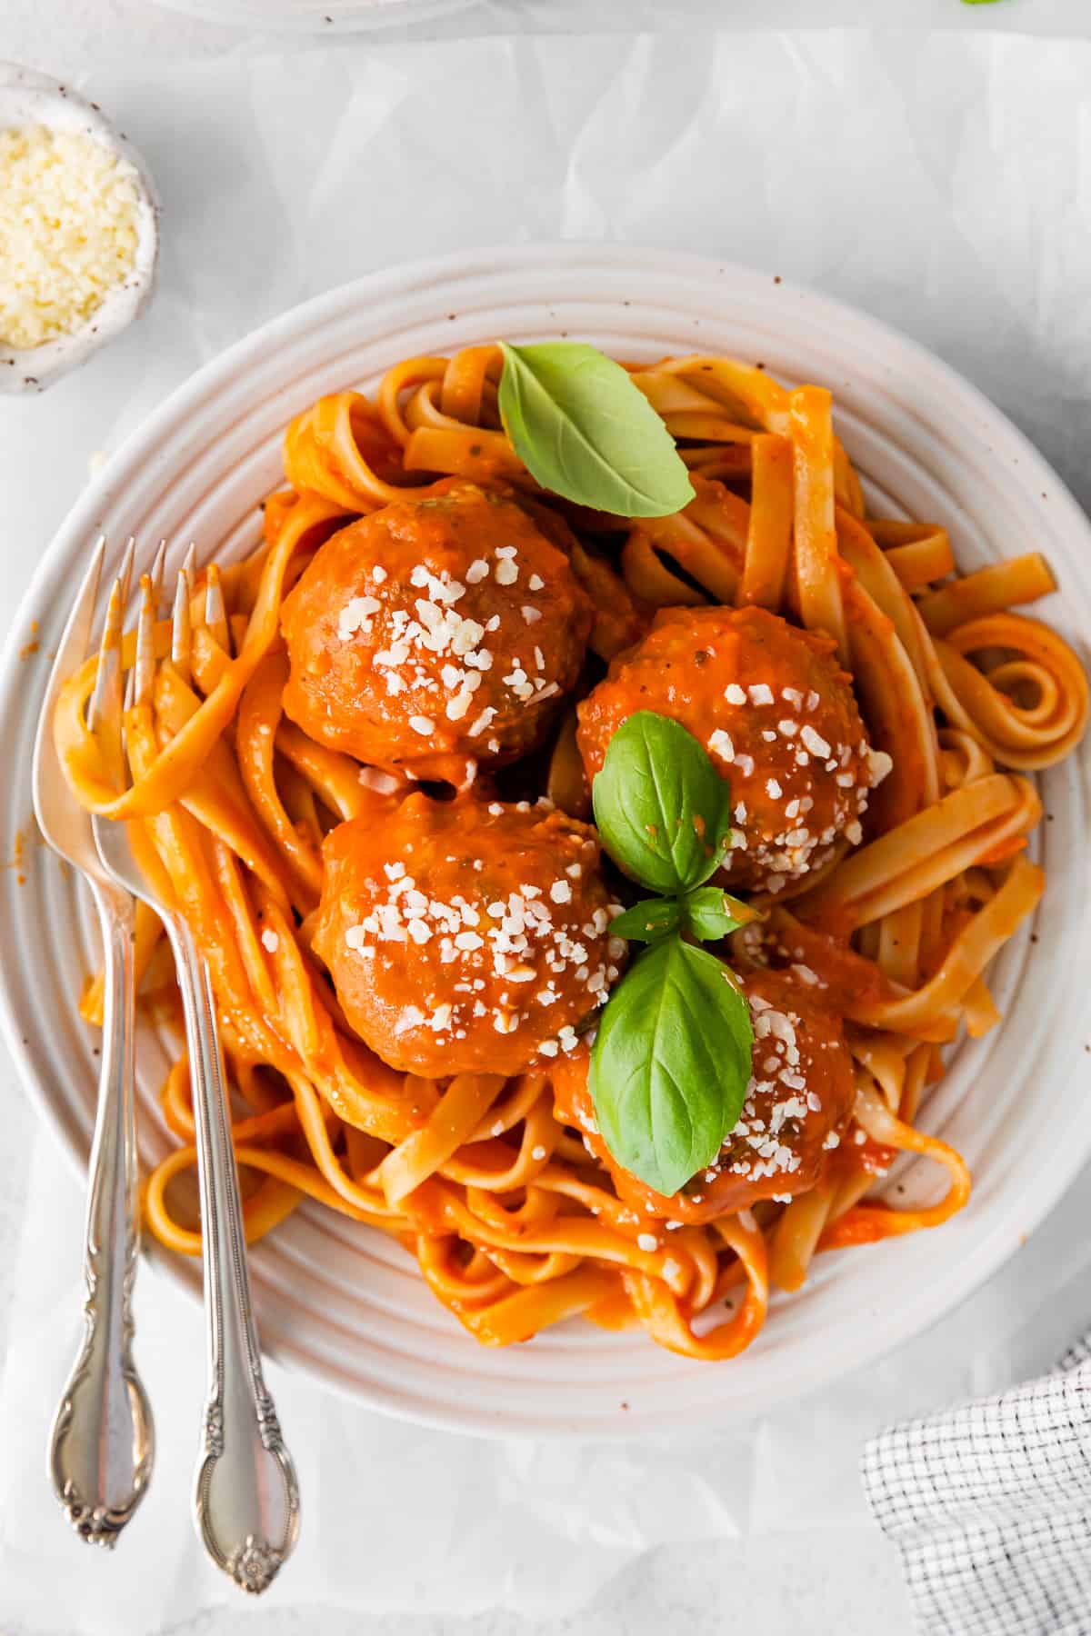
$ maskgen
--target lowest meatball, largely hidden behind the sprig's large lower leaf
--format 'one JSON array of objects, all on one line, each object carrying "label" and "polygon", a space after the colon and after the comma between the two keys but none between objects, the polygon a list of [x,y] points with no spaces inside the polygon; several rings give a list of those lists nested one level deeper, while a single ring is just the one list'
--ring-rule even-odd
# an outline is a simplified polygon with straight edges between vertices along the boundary
[{"label": "lowest meatball, largely hidden behind the sprig's large lower leaf", "polygon": [[576,1065],[554,1086],[558,1119],[584,1132],[590,1152],[608,1165],[618,1196],[646,1214],[700,1224],[759,1199],[810,1193],[826,1152],[839,1145],[855,1086],[841,1022],[823,1006],[821,990],[787,972],[756,972],[743,990],[754,1021],[743,1114],[708,1170],[672,1198],[612,1158]]}]

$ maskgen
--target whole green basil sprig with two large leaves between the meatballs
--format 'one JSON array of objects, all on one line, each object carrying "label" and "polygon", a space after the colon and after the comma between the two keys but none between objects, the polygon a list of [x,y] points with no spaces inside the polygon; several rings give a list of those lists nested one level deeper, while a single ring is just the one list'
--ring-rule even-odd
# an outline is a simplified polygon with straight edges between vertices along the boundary
[{"label": "whole green basil sprig with two large leaves between the meatballs", "polygon": [[589,1090],[613,1158],[669,1196],[712,1163],[738,1122],[754,1044],[733,973],[684,934],[715,941],[754,911],[703,885],[730,841],[730,792],[677,721],[631,715],[610,739],[592,802],[607,852],[662,895],[610,928],[649,947],[602,1013]]}]

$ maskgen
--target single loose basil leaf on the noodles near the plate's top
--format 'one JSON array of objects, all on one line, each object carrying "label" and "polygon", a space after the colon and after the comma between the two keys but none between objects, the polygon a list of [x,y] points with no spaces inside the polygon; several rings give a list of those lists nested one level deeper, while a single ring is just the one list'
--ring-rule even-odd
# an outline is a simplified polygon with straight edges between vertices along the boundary
[{"label": "single loose basil leaf on the noodles near the plate's top", "polygon": [[543,489],[615,517],[689,506],[674,438],[620,363],[571,340],[501,350],[501,420]]}]

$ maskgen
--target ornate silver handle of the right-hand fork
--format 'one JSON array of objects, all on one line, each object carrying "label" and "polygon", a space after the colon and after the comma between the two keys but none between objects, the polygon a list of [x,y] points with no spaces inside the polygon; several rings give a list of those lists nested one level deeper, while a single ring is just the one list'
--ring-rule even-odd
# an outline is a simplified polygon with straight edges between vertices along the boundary
[{"label": "ornate silver handle of the right-hand fork", "polygon": [[193,1512],[213,1561],[244,1590],[260,1592],[296,1543],[299,1490],[262,1374],[208,962],[180,916],[172,916],[170,933],[190,1047],[208,1315]]}]

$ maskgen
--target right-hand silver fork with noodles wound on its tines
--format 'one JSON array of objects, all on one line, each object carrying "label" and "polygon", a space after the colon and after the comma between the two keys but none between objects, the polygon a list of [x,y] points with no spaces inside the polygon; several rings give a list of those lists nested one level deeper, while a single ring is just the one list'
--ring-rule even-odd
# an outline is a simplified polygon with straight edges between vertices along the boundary
[{"label": "right-hand silver fork with noodles wound on its tines", "polygon": [[[126,699],[134,707],[152,700],[160,573],[162,551],[152,574],[141,579],[136,663]],[[188,674],[190,658],[190,589],[185,566],[178,574],[172,622],[172,659],[182,674]],[[118,586],[114,596],[119,596]],[[101,738],[113,743],[124,767],[121,653],[110,631],[103,638],[100,669],[105,676]],[[262,1374],[211,977],[186,921],[172,903],[154,895],[137,869],[126,826],[95,816],[92,828],[105,867],[126,892],[155,910],[175,955],[193,1083],[208,1317],[209,1381],[193,1513],[213,1561],[244,1590],[260,1592],[272,1584],[296,1543],[299,1489]]]}]

